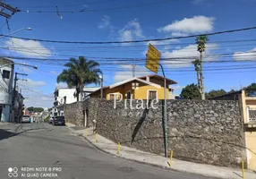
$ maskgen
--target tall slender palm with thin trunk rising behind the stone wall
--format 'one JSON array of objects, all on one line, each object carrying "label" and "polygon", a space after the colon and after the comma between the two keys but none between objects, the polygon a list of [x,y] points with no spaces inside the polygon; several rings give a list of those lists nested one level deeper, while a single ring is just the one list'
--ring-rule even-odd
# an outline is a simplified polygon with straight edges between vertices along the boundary
[{"label": "tall slender palm with thin trunk rising behind the stone wall", "polygon": [[200,59],[195,60],[194,65],[195,65],[195,70],[197,72],[198,76],[198,84],[199,84],[199,90],[201,93],[201,99],[205,99],[205,92],[204,92],[204,82],[203,82],[203,75],[202,75],[202,52],[205,51],[205,44],[209,40],[207,36],[198,36],[196,38],[196,44],[197,44],[197,51],[200,52]]}]

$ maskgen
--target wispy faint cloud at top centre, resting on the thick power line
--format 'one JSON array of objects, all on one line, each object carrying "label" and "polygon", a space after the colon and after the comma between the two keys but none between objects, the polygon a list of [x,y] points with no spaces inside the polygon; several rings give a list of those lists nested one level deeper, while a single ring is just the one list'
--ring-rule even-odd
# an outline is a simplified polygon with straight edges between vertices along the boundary
[{"label": "wispy faint cloud at top centre, resting on the thick power line", "polygon": [[119,36],[119,39],[122,41],[131,41],[136,38],[144,38],[140,22],[136,19],[128,21],[124,28],[119,30]]}]

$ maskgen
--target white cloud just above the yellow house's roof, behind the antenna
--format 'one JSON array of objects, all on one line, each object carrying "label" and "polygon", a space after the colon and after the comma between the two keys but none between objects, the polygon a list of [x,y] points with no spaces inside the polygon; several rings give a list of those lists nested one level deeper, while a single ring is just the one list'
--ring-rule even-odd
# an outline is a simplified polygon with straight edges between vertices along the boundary
[{"label": "white cloud just above the yellow house's roof, behind the antenna", "polygon": [[[124,65],[120,65],[119,67],[122,68],[123,70],[120,72],[115,72],[115,76],[114,76],[115,82],[124,81],[124,80],[132,78],[132,65],[131,64],[124,64]],[[144,66],[139,66],[139,65],[135,66],[135,76],[136,77],[149,75],[150,73],[152,73],[152,72],[150,72]]]}]

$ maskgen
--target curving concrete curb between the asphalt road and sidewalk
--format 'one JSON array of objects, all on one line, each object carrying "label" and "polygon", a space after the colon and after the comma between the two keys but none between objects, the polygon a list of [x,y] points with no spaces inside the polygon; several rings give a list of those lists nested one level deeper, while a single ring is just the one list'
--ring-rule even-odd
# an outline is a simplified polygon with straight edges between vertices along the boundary
[{"label": "curving concrete curb between the asphalt road and sidewalk", "polygon": [[[124,158],[122,156],[118,156],[118,155],[115,155],[111,152],[108,152],[104,149],[101,149],[99,148],[98,146],[96,146],[92,141],[89,141],[83,134],[77,134],[75,133],[75,131],[70,128],[69,126],[67,126],[67,128],[70,129],[70,131],[73,132],[73,134],[77,135],[77,136],[81,136],[83,139],[85,139],[86,141],[88,141],[94,148],[98,149],[99,151],[102,151],[112,157],[116,157],[116,158]],[[161,168],[161,169],[166,169],[166,170],[170,170],[170,171],[175,171],[175,172],[180,172],[180,173],[183,173],[183,174],[191,174],[191,175],[198,175],[198,176],[206,176],[206,177],[211,177],[211,178],[214,178],[214,179],[228,179],[228,178],[221,178],[221,177],[218,177],[218,176],[212,176],[212,175],[202,175],[202,174],[198,174],[198,173],[192,173],[192,172],[187,172],[187,171],[183,171],[183,170],[178,170],[178,169],[174,169],[174,168],[170,168],[170,167],[167,167],[167,166],[159,166],[157,164],[151,164],[151,163],[148,163],[148,162],[143,162],[143,161],[139,161],[139,160],[136,160],[136,159],[131,159],[131,158],[124,158],[126,160],[129,160],[129,161],[132,161],[132,162],[136,162],[136,163],[139,163],[139,164],[142,164],[142,165],[147,165],[147,166],[154,166],[154,167],[158,167],[158,168]]]}]

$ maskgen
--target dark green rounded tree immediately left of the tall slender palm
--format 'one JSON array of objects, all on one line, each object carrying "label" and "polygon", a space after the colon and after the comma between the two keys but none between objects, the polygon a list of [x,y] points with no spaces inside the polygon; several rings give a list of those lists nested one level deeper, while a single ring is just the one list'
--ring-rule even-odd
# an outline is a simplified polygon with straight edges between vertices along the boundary
[{"label": "dark green rounded tree immediately left of the tall slender palm", "polygon": [[197,85],[194,83],[187,85],[183,88],[181,95],[182,98],[187,99],[201,99],[201,93]]}]

